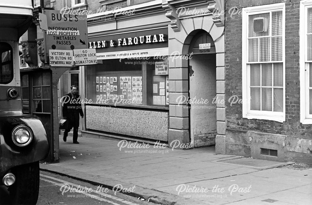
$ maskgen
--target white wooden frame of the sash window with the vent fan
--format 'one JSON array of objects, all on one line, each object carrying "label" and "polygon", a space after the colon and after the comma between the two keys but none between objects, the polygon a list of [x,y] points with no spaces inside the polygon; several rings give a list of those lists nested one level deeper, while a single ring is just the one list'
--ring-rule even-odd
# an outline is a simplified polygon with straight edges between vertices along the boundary
[{"label": "white wooden frame of the sash window with the vent fan", "polygon": [[[282,52],[281,61],[253,62],[253,63],[283,63],[283,112],[250,110],[250,72],[248,63],[248,26],[249,16],[274,11],[282,11]],[[270,29],[271,32],[271,29]],[[273,69],[273,67],[272,67]],[[273,72],[273,70],[272,70]],[[273,86],[273,85],[272,85]],[[285,121],[285,3],[276,3],[242,9],[242,114],[247,119]],[[273,100],[273,99],[272,99]]]}]

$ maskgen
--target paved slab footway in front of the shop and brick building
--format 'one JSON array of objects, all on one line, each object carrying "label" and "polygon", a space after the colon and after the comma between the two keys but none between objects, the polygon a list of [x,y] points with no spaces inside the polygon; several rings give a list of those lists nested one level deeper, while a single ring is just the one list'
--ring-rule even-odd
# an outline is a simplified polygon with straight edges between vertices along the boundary
[{"label": "paved slab footway in front of the shop and brick building", "polygon": [[[41,170],[158,204],[312,204],[312,169],[235,155],[120,139],[60,135],[59,163]],[[122,190],[121,190],[122,189]]]}]

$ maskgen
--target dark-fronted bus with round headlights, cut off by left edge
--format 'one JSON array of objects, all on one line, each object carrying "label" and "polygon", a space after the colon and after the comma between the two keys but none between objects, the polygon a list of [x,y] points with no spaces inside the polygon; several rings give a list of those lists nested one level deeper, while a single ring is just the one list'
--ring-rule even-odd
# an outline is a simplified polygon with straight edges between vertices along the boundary
[{"label": "dark-fronted bus with round headlights, cut off by left edge", "polygon": [[0,185],[12,204],[37,203],[39,160],[49,151],[41,120],[22,113],[18,42],[32,11],[31,0],[0,2]]}]

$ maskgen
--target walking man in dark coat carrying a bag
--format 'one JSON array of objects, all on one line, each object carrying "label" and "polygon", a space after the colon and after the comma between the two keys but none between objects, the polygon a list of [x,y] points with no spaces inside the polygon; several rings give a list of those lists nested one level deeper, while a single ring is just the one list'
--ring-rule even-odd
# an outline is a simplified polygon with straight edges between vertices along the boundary
[{"label": "walking man in dark coat carrying a bag", "polygon": [[73,131],[73,143],[79,144],[78,139],[78,127],[79,127],[79,114],[83,118],[83,112],[81,108],[81,99],[78,95],[77,86],[71,86],[71,92],[62,98],[63,105],[63,117],[68,121],[67,128],[64,131],[63,140],[66,142],[66,137],[68,132],[71,131],[71,128],[74,128]]}]

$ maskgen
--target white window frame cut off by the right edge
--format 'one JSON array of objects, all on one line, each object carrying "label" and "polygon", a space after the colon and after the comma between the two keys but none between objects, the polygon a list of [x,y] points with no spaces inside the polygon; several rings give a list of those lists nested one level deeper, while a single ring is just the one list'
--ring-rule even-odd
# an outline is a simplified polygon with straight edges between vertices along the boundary
[{"label": "white window frame cut off by the right edge", "polygon": [[309,114],[309,65],[307,60],[308,8],[312,8],[312,0],[300,1],[300,122],[312,124]]}]

